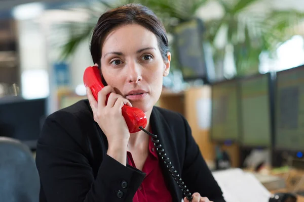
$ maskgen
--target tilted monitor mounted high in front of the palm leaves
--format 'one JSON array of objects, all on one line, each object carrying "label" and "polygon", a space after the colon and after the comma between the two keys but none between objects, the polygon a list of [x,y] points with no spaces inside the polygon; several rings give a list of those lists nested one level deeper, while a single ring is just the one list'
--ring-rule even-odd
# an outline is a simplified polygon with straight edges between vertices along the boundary
[{"label": "tilted monitor mounted high in front of the palm leaves", "polygon": [[174,48],[177,66],[183,79],[201,79],[211,83],[215,79],[212,50],[203,40],[204,24],[200,19],[179,23],[174,27]]}]

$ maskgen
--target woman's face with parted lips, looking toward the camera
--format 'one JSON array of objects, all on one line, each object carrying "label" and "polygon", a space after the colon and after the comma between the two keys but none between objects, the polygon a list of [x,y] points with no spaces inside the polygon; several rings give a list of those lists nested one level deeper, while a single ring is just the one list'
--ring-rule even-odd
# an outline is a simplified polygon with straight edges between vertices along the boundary
[{"label": "woman's face with parted lips, looking toward the camera", "polygon": [[164,61],[153,32],[129,24],[111,31],[104,39],[101,73],[106,83],[143,112],[157,103],[163,76],[170,69],[170,53]]}]

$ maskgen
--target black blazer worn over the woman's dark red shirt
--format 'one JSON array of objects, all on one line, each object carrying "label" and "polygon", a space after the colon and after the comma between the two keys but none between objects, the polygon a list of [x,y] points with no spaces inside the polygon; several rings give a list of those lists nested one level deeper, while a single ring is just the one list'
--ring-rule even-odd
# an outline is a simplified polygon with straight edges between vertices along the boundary
[{"label": "black blazer worn over the woman's dark red shirt", "polygon": [[[187,121],[178,113],[154,107],[150,125],[189,191],[224,201]],[[132,201],[145,173],[112,159],[107,148],[87,99],[51,114],[37,142],[40,201]],[[178,184],[167,168],[163,173],[173,201],[181,201],[184,196]]]}]

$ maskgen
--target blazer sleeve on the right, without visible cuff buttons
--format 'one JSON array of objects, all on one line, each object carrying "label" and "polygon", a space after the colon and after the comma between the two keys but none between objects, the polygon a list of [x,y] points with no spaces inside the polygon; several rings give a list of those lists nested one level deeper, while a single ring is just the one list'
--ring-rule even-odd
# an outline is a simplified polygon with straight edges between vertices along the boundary
[{"label": "blazer sleeve on the right, without visible cuff buttons", "polygon": [[211,201],[225,202],[221,188],[203,159],[199,146],[192,136],[188,122],[184,117],[182,117],[182,119],[186,134],[186,150],[182,168],[182,178],[186,186],[192,194],[198,192],[201,196],[208,197]]}]

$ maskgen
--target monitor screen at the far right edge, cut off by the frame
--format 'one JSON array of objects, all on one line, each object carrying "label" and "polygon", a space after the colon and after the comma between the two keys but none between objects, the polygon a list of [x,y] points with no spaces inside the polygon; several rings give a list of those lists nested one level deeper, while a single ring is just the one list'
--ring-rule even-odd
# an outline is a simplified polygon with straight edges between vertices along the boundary
[{"label": "monitor screen at the far right edge, cut off by the frame", "polygon": [[304,66],[277,72],[275,147],[304,150]]}]

